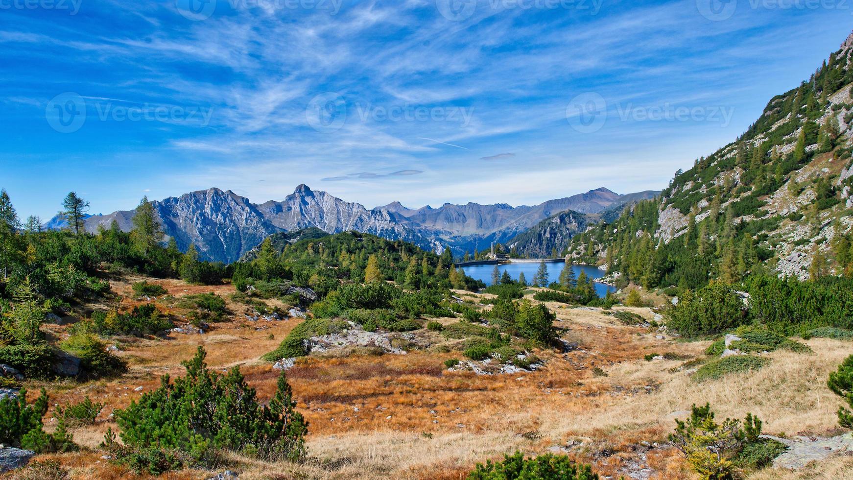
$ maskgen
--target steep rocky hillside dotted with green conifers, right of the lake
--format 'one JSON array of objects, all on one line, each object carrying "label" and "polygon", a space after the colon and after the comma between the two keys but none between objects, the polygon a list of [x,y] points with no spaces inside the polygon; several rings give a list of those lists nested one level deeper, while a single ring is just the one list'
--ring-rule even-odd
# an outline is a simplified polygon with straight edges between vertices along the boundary
[{"label": "steep rocky hillside dotted with green conifers, right of the lake", "polygon": [[677,171],[659,199],[577,235],[568,256],[647,288],[853,275],[851,48],[772,98],[736,142]]}]

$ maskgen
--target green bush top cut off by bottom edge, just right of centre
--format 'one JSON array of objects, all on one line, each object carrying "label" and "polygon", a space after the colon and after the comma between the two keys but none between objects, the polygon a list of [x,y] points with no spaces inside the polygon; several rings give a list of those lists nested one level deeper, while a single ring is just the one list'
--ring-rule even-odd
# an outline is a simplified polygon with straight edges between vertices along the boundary
[{"label": "green bush top cut off by bottom edge, just right of centre", "polygon": [[477,464],[467,480],[598,480],[590,466],[576,464],[566,455],[544,454],[525,459],[524,454],[504,455],[503,460]]}]

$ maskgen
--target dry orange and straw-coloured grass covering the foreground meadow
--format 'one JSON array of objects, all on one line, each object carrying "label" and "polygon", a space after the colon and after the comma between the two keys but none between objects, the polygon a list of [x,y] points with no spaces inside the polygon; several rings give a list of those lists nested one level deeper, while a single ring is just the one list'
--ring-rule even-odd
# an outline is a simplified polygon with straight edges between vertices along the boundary
[{"label": "dry orange and straw-coloured grass covering the foreground meadow", "polygon": [[[165,282],[172,294],[196,288]],[[129,288],[130,283],[126,288]],[[230,286],[216,287],[227,298]],[[186,292],[184,292],[186,291]],[[475,297],[467,293],[466,297]],[[126,300],[123,300],[126,302]],[[355,355],[309,358],[288,371],[299,411],[310,421],[307,438],[310,459],[304,465],[269,463],[232,457],[232,470],[241,478],[462,478],[475,462],[521,450],[541,454],[554,444],[583,441],[578,460],[616,475],[635,457],[635,445],[660,442],[672,430],[670,413],[693,403],[711,402],[719,417],[742,418],[746,412],[764,420],[768,433],[822,434],[836,425],[837,397],[826,387],[827,374],[850,354],[850,344],[814,339],[815,355],[775,352],[768,367],[702,384],[677,370],[682,361],[645,361],[648,353],[673,352],[703,356],[708,342],[684,343],[656,338],[656,333],[626,327],[595,309],[571,309],[548,303],[558,315],[565,338],[577,344],[569,353],[540,351],[547,360],[538,372],[478,376],[448,373],[444,360],[460,358],[458,351],[430,349],[409,355]],[[229,308],[236,309],[237,306]],[[628,309],[647,319],[649,309]],[[236,310],[232,310],[236,311]],[[278,372],[259,356],[273,350],[298,321],[215,324],[206,335],[172,334],[168,339],[144,339],[123,345],[121,355],[131,371],[119,379],[84,385],[47,385],[51,402],[78,402],[89,395],[107,403],[96,425],[74,431],[75,441],[96,448],[113,425],[108,415],[125,407],[142,392],[153,390],[160,375],[183,374],[180,361],[204,345],[209,366],[240,366],[258,396],[268,399]],[[439,319],[450,323],[454,319]],[[257,327],[268,327],[256,330]],[[274,338],[269,338],[270,333]],[[436,334],[436,338],[438,334]],[[452,344],[451,344],[452,345]],[[594,367],[607,373],[595,377]],[[27,385],[31,390],[41,386]],[[52,414],[48,413],[48,417]],[[51,425],[49,422],[48,425]],[[601,454],[601,451],[609,454]],[[131,477],[125,469],[100,459],[100,453],[55,455],[72,468],[74,478]],[[96,463],[100,462],[100,463]],[[655,449],[648,465],[658,478],[693,478],[673,449]],[[220,470],[223,470],[224,467]],[[171,478],[206,478],[214,472],[183,471]],[[807,472],[763,471],[755,478],[853,477],[847,459],[834,459]],[[811,475],[811,476],[809,476]],[[833,477],[835,475],[835,477]]]}]

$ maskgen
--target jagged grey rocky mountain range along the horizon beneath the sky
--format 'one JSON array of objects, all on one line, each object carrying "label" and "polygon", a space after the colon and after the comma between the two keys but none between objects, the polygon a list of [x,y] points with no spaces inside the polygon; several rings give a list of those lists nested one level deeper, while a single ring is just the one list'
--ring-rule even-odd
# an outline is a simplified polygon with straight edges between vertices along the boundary
[{"label": "jagged grey rocky mountain range along the horizon beneath the sky", "polygon": [[[303,228],[320,228],[334,234],[357,230],[389,240],[405,240],[430,251],[450,247],[457,255],[484,250],[492,241],[506,243],[543,219],[561,211],[597,213],[640,194],[620,195],[606,188],[590,190],[540,205],[444,204],[409,209],[399,202],[368,210],[327,192],[299,185],[281,201],[252,204],[231,190],[208,188],[153,201],[165,234],[175,238],[185,250],[194,244],[200,256],[232,263],[258,246],[270,234]],[[96,232],[115,221],[119,228],[132,228],[134,211],[114,211],[86,219],[86,229]],[[51,228],[61,228],[61,218],[50,220]]]}]

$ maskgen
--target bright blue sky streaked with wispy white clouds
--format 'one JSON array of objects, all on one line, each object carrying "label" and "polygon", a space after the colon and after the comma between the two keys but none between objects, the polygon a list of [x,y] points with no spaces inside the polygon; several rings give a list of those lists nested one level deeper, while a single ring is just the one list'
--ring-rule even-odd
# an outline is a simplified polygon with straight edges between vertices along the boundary
[{"label": "bright blue sky streaked with wispy white clouds", "polygon": [[299,183],[368,208],[664,188],[853,26],[840,0],[205,1],[0,0],[21,215],[70,190],[106,213]]}]

